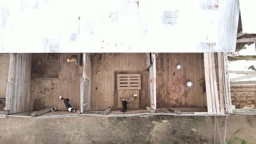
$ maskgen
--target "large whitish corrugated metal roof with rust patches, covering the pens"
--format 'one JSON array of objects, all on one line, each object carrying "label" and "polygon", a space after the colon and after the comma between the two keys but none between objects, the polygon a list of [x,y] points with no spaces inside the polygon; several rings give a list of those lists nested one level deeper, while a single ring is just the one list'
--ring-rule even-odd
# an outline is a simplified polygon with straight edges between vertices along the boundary
[{"label": "large whitish corrugated metal roof with rust patches, covering the pens", "polygon": [[235,51],[238,0],[0,3],[0,52]]}]

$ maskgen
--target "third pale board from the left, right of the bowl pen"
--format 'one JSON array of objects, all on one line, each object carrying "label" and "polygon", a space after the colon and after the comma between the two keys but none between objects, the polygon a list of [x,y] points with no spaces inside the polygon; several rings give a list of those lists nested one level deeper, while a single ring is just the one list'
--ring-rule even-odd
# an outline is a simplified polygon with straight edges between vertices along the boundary
[{"label": "third pale board from the left, right of the bowl pen", "polygon": [[214,97],[216,102],[216,111],[217,111],[217,115],[220,115],[220,103],[219,103],[218,88],[217,88],[214,53],[211,53],[211,58],[212,58],[213,87],[214,87]]}]

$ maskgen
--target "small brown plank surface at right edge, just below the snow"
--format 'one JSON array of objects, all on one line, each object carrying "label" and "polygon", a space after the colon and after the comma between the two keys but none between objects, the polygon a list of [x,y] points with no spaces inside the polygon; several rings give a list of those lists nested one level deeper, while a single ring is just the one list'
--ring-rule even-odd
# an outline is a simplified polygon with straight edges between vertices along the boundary
[{"label": "small brown plank surface at right edge, just below the snow", "polygon": [[231,85],[232,101],[252,101],[256,104],[256,85]]}]

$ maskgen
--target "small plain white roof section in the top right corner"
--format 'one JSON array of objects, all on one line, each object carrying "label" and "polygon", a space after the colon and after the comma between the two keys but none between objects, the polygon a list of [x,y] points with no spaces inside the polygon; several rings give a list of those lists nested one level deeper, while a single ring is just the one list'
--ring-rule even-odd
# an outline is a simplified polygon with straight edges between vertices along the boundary
[{"label": "small plain white roof section in the top right corner", "polygon": [[240,13],[243,25],[243,33],[256,33],[255,0],[240,0]]}]

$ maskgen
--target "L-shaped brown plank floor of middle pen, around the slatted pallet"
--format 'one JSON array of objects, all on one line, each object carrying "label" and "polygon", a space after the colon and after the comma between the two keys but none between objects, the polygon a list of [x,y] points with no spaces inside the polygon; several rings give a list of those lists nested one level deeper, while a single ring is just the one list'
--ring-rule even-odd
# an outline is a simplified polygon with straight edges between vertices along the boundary
[{"label": "L-shaped brown plank floor of middle pen, around the slatted pallet", "polygon": [[114,105],[115,71],[145,71],[144,53],[102,53],[92,58],[91,110]]}]

